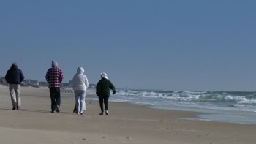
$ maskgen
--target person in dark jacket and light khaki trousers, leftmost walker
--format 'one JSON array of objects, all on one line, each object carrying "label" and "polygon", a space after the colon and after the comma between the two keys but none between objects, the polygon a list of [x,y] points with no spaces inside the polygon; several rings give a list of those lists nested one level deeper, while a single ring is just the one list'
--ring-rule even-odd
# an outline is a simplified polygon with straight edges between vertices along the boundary
[{"label": "person in dark jacket and light khaki trousers, leftmost walker", "polygon": [[11,68],[5,75],[5,80],[9,83],[9,91],[12,99],[12,110],[19,110],[21,106],[20,101],[20,83],[24,80],[24,75],[18,69],[17,63],[12,63]]}]

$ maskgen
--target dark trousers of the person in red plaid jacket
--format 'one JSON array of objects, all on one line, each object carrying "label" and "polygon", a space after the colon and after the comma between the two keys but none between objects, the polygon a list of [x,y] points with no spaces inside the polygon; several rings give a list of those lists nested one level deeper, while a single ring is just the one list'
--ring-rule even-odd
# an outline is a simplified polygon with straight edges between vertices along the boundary
[{"label": "dark trousers of the person in red plaid jacket", "polygon": [[50,88],[51,110],[55,111],[56,107],[61,107],[61,88]]}]

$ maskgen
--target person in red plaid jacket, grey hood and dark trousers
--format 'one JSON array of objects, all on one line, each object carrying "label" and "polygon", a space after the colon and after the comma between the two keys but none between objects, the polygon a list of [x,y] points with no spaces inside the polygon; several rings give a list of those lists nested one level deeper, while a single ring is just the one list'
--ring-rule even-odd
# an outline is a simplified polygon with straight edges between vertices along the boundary
[{"label": "person in red plaid jacket, grey hood and dark trousers", "polygon": [[56,61],[52,61],[52,67],[48,69],[45,75],[46,81],[50,88],[51,113],[60,112],[61,107],[61,82],[63,80],[63,72],[58,67]]}]

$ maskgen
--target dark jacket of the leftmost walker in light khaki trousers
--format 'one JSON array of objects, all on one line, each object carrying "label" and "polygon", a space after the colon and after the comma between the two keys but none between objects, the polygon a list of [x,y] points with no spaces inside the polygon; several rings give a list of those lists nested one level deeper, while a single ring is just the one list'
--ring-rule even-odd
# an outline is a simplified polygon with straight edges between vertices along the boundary
[{"label": "dark jacket of the leftmost walker in light khaki trousers", "polygon": [[22,71],[16,65],[12,65],[5,75],[5,80],[9,84],[20,84],[24,78]]}]

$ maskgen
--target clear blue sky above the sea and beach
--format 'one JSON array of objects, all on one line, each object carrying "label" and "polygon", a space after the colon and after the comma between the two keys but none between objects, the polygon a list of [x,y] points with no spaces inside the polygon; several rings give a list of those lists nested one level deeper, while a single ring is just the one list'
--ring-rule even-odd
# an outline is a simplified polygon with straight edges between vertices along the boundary
[{"label": "clear blue sky above the sea and beach", "polygon": [[256,91],[256,1],[1,0],[0,75],[17,62],[45,81],[51,61],[116,88]]}]

